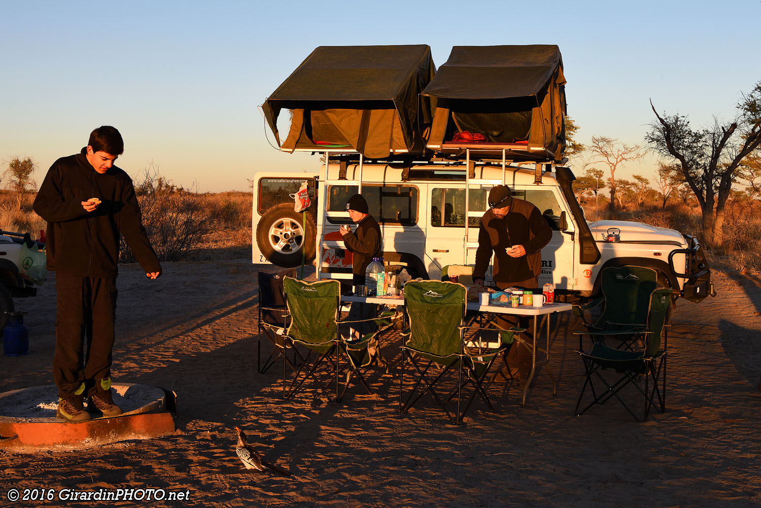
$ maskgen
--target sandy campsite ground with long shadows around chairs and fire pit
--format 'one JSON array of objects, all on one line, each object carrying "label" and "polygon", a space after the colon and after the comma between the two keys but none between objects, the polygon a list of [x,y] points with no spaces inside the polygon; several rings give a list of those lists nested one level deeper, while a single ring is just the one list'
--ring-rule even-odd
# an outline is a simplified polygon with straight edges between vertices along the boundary
[{"label": "sandy campsite ground with long shadows around chairs and fire pit", "polygon": [[[158,487],[189,492],[174,506],[761,506],[761,289],[747,280],[716,274],[718,298],[680,301],[665,414],[635,423],[611,402],[573,416],[583,369],[562,319],[551,348],[558,396],[540,373],[521,409],[520,391],[496,383],[500,414],[479,402],[455,427],[431,399],[399,414],[396,371],[372,373],[376,393],[353,387],[341,404],[311,389],[283,401],[282,369],[256,373],[259,268],[167,264],[151,282],[123,267],[113,378],[176,391],[177,433],[78,452],[0,449],[0,505],[14,506],[11,487]],[[29,312],[30,354],[0,356],[0,391],[53,382],[52,274],[17,306]],[[389,340],[384,354],[398,362]],[[242,468],[236,425],[293,476]]]}]

